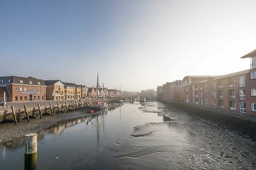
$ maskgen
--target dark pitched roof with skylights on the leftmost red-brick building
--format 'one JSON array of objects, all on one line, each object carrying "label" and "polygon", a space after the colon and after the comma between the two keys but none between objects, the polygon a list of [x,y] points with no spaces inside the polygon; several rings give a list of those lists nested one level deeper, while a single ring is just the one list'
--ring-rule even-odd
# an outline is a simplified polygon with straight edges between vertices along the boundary
[{"label": "dark pitched roof with skylights on the leftmost red-brick building", "polygon": [[[29,83],[31,82],[31,83]],[[1,76],[0,77],[0,85],[1,84],[25,84],[25,85],[42,85],[45,86],[45,82],[42,79],[37,79],[35,77],[20,77],[20,76]]]}]

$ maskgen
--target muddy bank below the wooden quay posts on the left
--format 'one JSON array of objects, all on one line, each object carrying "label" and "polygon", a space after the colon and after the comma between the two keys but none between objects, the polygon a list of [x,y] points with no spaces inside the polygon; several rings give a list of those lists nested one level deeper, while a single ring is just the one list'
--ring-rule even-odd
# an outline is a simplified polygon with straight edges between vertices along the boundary
[{"label": "muddy bank below the wooden quay posts on the left", "polygon": [[51,115],[44,116],[44,118],[42,119],[31,118],[29,122],[27,122],[26,120],[23,120],[22,122],[19,122],[19,124],[17,125],[14,125],[13,123],[0,124],[0,143],[3,143],[5,141],[10,141],[15,138],[20,138],[32,132],[42,131],[47,127],[50,127],[51,125],[54,125],[56,124],[56,122],[59,122],[61,120],[68,120],[71,118],[78,118],[86,115],[90,115],[90,114],[81,110],[81,111],[74,111],[74,112],[68,112],[68,113],[61,113],[61,115],[56,114],[53,117]]}]

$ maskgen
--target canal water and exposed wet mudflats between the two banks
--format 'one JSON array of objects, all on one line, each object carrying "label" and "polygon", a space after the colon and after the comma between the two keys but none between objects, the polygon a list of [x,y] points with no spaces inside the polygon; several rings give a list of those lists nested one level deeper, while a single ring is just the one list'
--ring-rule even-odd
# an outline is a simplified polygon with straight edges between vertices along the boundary
[{"label": "canal water and exposed wet mudflats between the two banks", "polygon": [[[0,153],[0,169],[23,169],[24,138]],[[256,145],[158,102],[127,103],[38,132],[37,169],[256,169]]]}]

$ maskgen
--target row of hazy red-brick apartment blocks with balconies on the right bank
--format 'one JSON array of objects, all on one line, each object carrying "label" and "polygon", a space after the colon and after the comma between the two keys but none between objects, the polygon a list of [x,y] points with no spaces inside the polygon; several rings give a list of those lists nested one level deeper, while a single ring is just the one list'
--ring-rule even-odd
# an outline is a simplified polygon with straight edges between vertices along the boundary
[{"label": "row of hazy red-brick apartment blocks with balconies on the right bank", "polygon": [[[256,50],[241,58],[250,58],[250,69],[221,76],[185,76],[182,80],[184,102],[256,115]],[[172,90],[177,89],[171,84],[157,87],[159,99],[173,101]]]}]

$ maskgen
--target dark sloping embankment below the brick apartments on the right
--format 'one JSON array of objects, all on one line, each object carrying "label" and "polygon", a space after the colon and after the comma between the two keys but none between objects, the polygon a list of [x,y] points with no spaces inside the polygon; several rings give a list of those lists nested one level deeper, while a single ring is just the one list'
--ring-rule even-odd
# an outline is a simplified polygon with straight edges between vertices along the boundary
[{"label": "dark sloping embankment below the brick apartments on the right", "polygon": [[224,129],[236,132],[246,138],[256,141],[256,120],[241,114],[226,113],[225,111],[212,111],[184,103],[168,103],[168,106],[184,111],[185,113],[210,122]]}]

